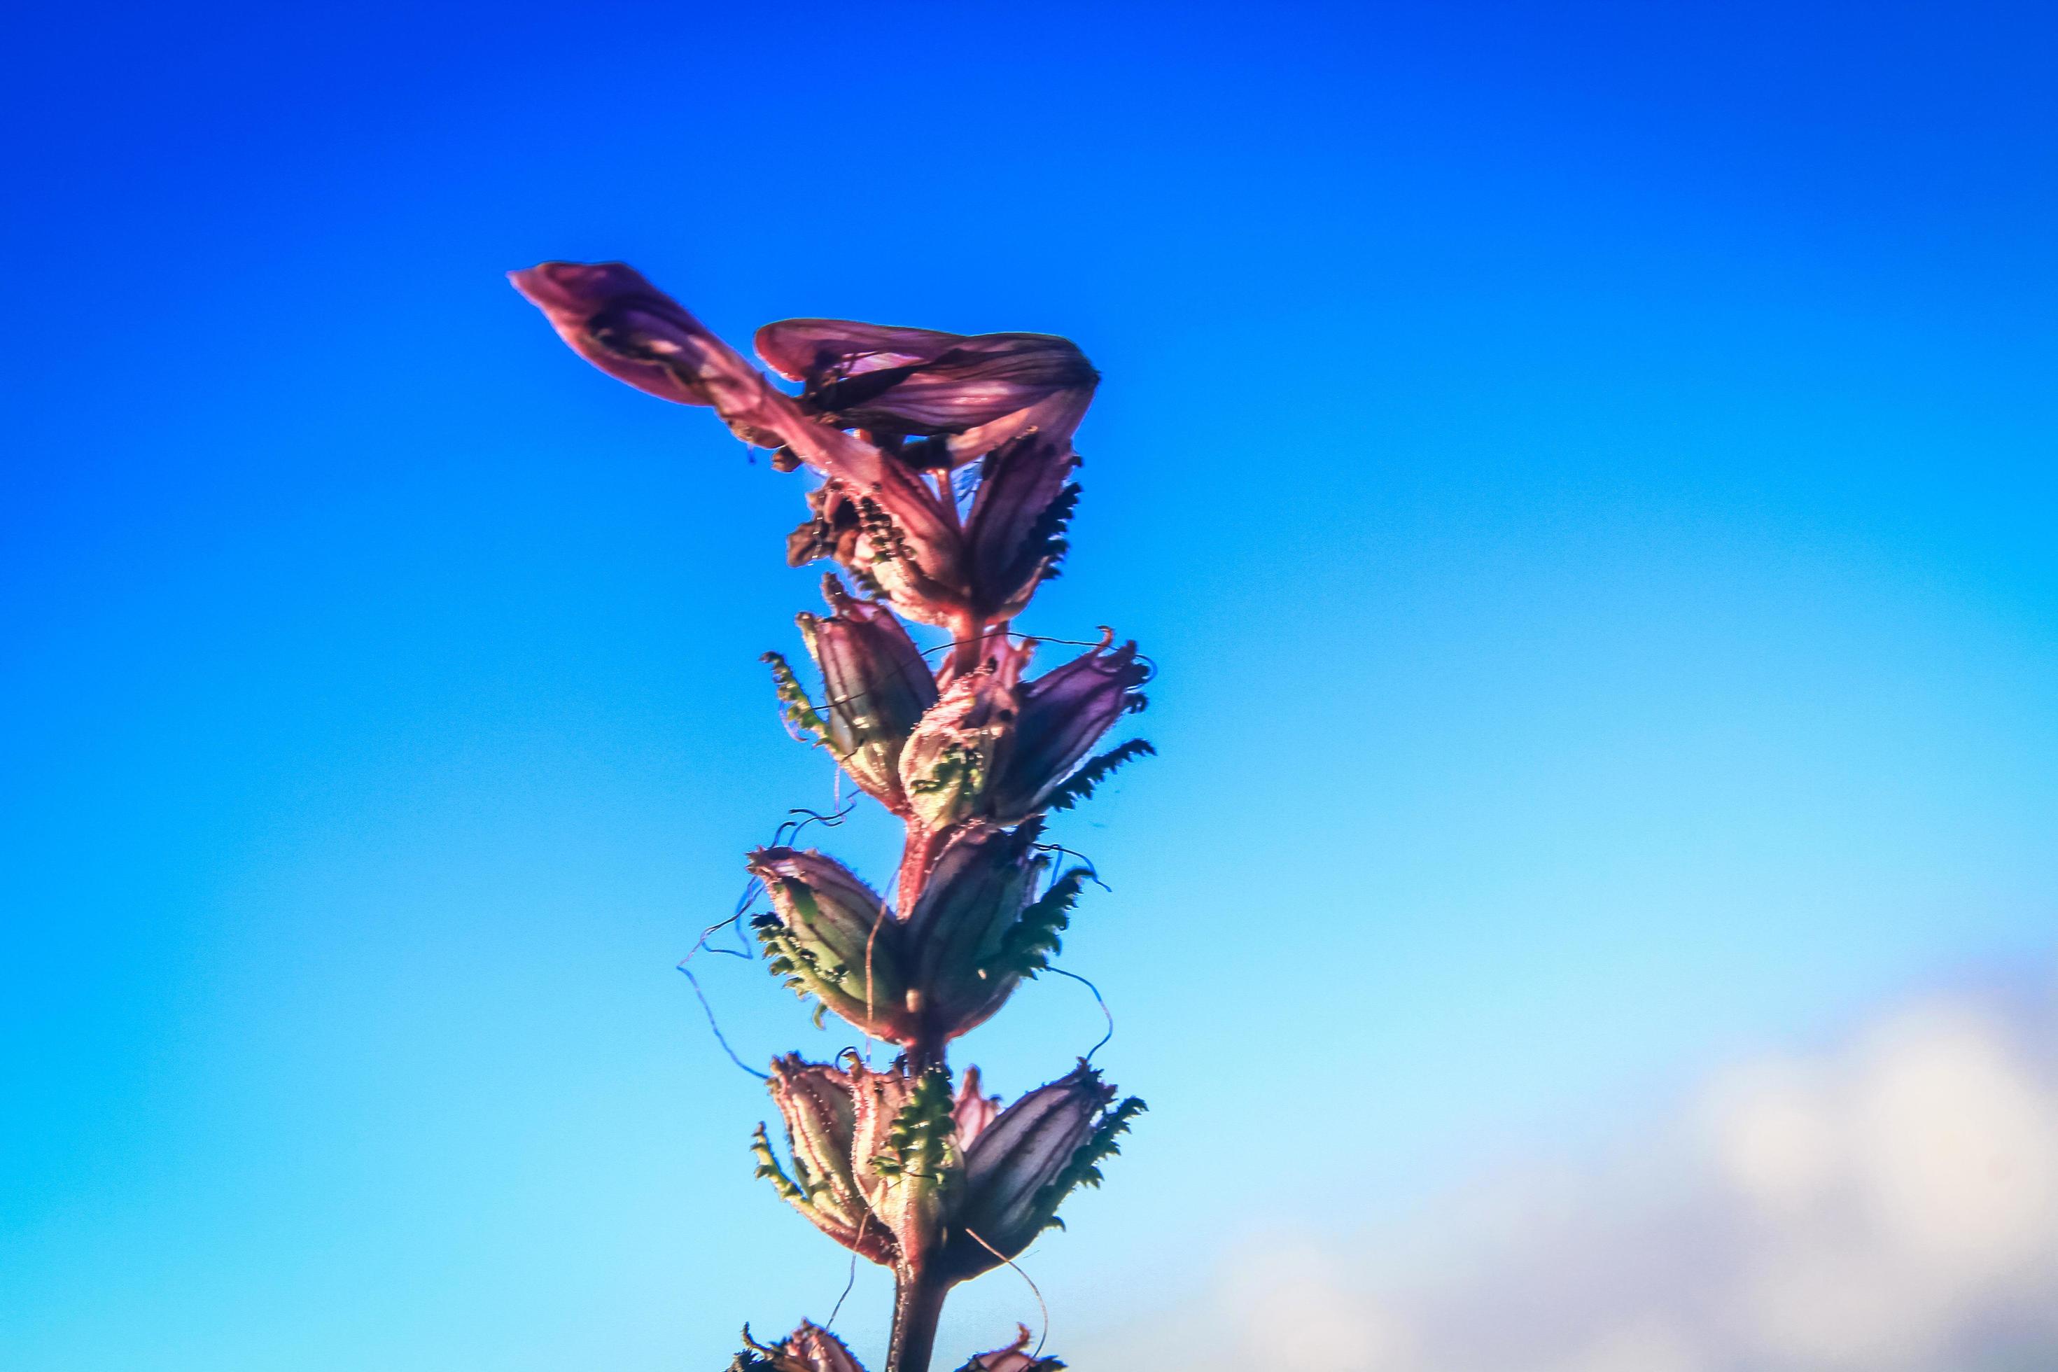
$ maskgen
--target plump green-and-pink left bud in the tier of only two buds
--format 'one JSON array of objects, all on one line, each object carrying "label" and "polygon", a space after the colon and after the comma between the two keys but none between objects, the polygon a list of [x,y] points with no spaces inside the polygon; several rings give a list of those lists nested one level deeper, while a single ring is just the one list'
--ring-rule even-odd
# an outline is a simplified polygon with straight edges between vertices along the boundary
[{"label": "plump green-and-pink left bud in the tier of only two buds", "polygon": [[749,858],[772,913],[751,928],[774,975],[860,1033],[901,1041],[916,1024],[901,930],[887,903],[850,868],[815,850],[759,847]]}]

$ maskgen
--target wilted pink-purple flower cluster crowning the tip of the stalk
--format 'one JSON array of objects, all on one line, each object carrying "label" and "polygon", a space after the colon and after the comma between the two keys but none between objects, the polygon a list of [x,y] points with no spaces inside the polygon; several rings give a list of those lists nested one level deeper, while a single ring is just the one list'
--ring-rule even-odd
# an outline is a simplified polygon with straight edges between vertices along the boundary
[{"label": "wilted pink-purple flower cluster crowning the tip of the stalk", "polygon": [[[786,545],[794,566],[836,557],[910,619],[961,629],[1019,613],[1064,555],[1078,498],[1072,430],[1097,383],[1066,339],[766,325],[759,352],[807,387],[794,399],[626,263],[545,261],[508,276],[609,376],[712,405],[776,465],[821,473],[813,516]],[[932,485],[922,473],[980,457],[961,518],[947,477]]]}]

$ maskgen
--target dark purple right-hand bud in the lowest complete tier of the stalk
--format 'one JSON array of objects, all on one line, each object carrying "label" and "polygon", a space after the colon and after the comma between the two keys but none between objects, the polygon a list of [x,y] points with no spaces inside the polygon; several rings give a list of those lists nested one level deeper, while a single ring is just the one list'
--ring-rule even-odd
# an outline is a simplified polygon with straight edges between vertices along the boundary
[{"label": "dark purple right-hand bud in the lowest complete tier of the stalk", "polygon": [[1113,1088],[1080,1063],[1000,1111],[965,1150],[963,1193],[943,1265],[971,1277],[1013,1259],[1054,1226],[1058,1205],[1078,1185],[1099,1185],[1099,1162],[1120,1152],[1115,1138],[1142,1113],[1130,1096],[1109,1109]]}]

